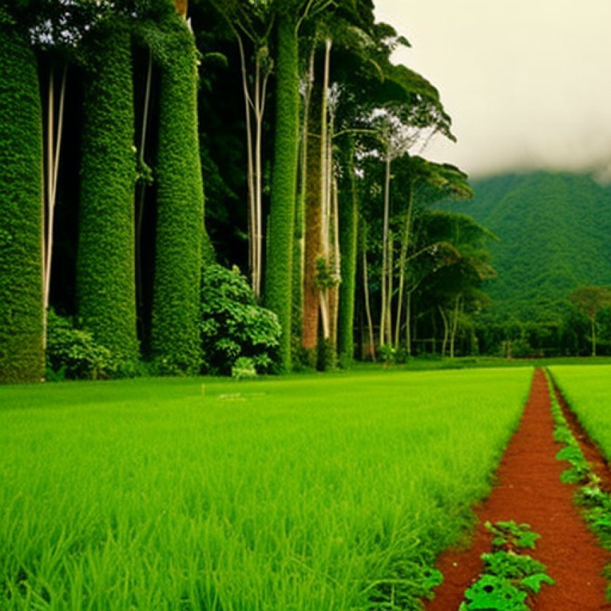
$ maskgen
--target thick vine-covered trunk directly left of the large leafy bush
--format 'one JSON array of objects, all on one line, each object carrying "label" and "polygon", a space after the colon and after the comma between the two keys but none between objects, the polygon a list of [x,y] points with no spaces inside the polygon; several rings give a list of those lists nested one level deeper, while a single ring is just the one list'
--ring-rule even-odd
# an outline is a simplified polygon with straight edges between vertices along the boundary
[{"label": "thick vine-covered trunk directly left of the large leafy bush", "polygon": [[171,24],[166,55],[159,93],[151,351],[160,373],[196,374],[202,248],[209,243],[197,137],[197,50],[183,22]]}]

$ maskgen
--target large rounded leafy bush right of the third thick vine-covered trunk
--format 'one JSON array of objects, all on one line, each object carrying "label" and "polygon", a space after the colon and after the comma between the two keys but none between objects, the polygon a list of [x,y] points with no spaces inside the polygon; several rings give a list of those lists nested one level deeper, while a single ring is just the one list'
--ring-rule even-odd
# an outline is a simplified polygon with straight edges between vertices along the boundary
[{"label": "large rounded leafy bush right of the third thick vine-covered trunk", "polygon": [[235,368],[265,372],[277,357],[277,317],[256,305],[247,279],[237,268],[208,265],[203,270],[199,329],[206,373],[235,375]]}]

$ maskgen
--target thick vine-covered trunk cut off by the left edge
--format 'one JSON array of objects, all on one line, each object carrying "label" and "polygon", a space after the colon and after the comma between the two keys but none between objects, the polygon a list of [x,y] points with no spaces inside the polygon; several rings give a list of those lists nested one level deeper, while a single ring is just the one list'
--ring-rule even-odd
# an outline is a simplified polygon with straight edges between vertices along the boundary
[{"label": "thick vine-covered trunk cut off by the left edge", "polygon": [[44,373],[41,112],[29,40],[0,25],[0,382]]}]

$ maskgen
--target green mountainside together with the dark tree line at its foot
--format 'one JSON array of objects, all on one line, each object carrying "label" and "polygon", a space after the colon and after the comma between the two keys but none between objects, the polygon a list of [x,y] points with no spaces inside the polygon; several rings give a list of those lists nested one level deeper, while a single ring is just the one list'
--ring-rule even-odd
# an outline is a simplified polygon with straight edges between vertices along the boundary
[{"label": "green mountainside together with the dark tree line at its foot", "polygon": [[[490,243],[497,276],[478,321],[487,352],[510,341],[518,355],[589,353],[589,325],[570,296],[611,285],[611,186],[589,174],[537,171],[473,180],[468,202],[441,206],[472,215],[499,238]],[[604,306],[604,304],[603,304]],[[597,320],[609,353],[611,312]],[[502,351],[502,350],[501,350]]]}]

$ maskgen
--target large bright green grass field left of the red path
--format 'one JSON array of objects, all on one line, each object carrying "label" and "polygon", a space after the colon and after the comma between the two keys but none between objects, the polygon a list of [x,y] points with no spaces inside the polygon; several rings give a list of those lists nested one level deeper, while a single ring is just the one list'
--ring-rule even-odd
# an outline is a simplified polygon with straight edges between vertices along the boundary
[{"label": "large bright green grass field left of the red path", "polygon": [[0,388],[0,608],[417,608],[531,376]]}]

